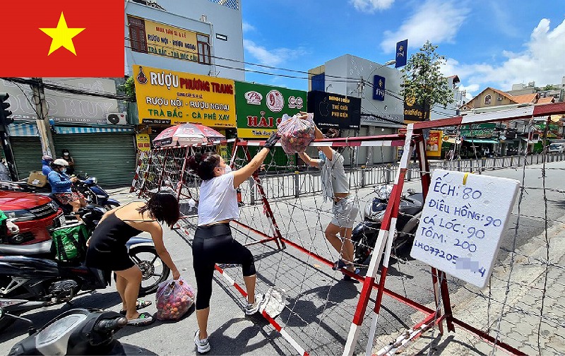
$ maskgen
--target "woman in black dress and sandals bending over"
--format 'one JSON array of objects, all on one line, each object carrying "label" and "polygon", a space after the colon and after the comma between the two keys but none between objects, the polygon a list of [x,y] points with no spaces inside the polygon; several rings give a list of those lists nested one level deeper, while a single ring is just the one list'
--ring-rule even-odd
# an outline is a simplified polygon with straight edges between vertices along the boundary
[{"label": "woman in black dress and sandals bending over", "polygon": [[137,312],[142,275],[139,267],[129,258],[126,242],[143,231],[149,232],[160,259],[171,269],[172,277],[178,279],[180,273],[163,244],[160,223],[172,227],[179,220],[179,215],[177,197],[159,192],[147,203],[134,202],[109,210],[88,239],[86,266],[116,273],[116,289],[130,325],[147,325],[153,318],[148,313]]}]

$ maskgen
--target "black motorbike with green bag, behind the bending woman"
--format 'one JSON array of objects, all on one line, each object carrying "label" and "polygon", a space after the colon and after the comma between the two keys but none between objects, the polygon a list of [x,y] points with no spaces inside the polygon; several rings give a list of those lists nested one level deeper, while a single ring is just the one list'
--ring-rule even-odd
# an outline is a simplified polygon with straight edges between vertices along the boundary
[{"label": "black motorbike with green bag, behind the bending woman", "polygon": [[[89,236],[106,211],[102,206],[92,205],[79,209]],[[72,225],[61,228],[69,226]],[[139,295],[155,292],[159,283],[169,278],[170,269],[159,259],[153,239],[132,237],[126,248],[143,275]],[[84,261],[60,262],[54,256],[52,240],[32,245],[0,244],[0,307],[11,314],[21,314],[69,302],[83,293],[105,289],[111,283],[109,271],[88,268]],[[0,321],[0,330],[8,326],[2,324]]]}]

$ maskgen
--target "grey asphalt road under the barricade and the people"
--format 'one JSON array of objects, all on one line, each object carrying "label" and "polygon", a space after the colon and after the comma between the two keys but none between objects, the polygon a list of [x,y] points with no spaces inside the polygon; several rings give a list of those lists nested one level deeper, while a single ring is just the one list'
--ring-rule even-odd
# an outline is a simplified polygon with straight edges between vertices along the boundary
[{"label": "grey asphalt road under the barricade and the people", "polygon": [[[564,168],[565,163],[557,162],[550,166]],[[521,180],[522,170],[501,170],[485,174]],[[548,171],[548,176],[547,186],[556,189],[562,186],[560,178],[562,171]],[[528,167],[525,186],[539,187],[540,177],[539,167]],[[418,189],[418,184],[420,183],[416,181],[409,182],[405,185],[405,189],[410,187]],[[364,206],[364,203],[371,198],[370,191],[371,189],[357,191],[360,206]],[[528,190],[521,205],[522,213],[542,215],[544,203],[541,194],[542,191],[539,190]],[[118,199],[122,203],[134,198],[126,193],[118,194]],[[552,218],[564,215],[563,202],[563,194],[550,192],[549,214]],[[331,218],[327,213],[329,207],[328,203],[322,202],[320,196],[303,197],[299,201],[293,199],[273,203],[273,210],[278,216],[278,224],[287,238],[333,261],[337,256],[328,247],[321,232],[322,227],[325,227]],[[517,206],[513,211],[517,212]],[[249,225],[268,231],[268,223],[264,219],[262,206],[243,208],[242,220]],[[511,223],[515,220],[516,218],[513,218]],[[530,237],[539,235],[543,225],[544,223],[539,218],[521,217],[517,244],[521,245]],[[252,242],[258,239],[257,235],[241,228],[237,229],[235,235],[242,242]],[[514,236],[511,230],[504,235],[504,249],[511,248]],[[191,235],[186,237],[173,231],[165,232],[165,244],[172,258],[182,269],[184,278],[194,283],[190,241]],[[342,276],[339,272],[332,271],[323,263],[297,252],[292,247],[280,251],[271,242],[256,244],[250,248],[257,260],[258,290],[264,291],[271,285],[277,285],[283,288],[287,295],[288,308],[277,319],[280,324],[283,324],[290,335],[311,354],[340,354],[357,304],[360,284],[341,280]],[[499,254],[499,258],[504,259],[504,252]],[[429,268],[422,266],[422,263],[417,261],[403,263],[393,261],[391,274],[387,279],[387,287],[402,295],[408,295],[417,302],[429,304],[432,302],[432,293],[428,271]],[[239,283],[242,282],[239,269],[227,268],[226,273],[233,276]],[[215,280],[209,328],[212,355],[242,355],[244,353],[246,355],[289,355],[295,353],[292,346],[261,316],[244,315],[242,311],[244,299],[221,275],[217,274]],[[455,292],[461,286],[465,285],[451,285],[451,292],[456,294]],[[457,302],[458,300],[453,300],[454,304]],[[369,302],[369,307],[371,305],[374,305],[374,302]],[[99,307],[117,311],[119,310],[119,297],[114,287],[111,286],[106,290],[73,300],[72,306],[51,307],[30,312],[26,316],[37,325],[42,325],[59,314],[61,309],[70,307]],[[155,307],[149,307],[148,311],[155,312]],[[404,328],[412,326],[412,314],[412,309],[385,297],[377,333],[388,334],[403,331]],[[5,355],[16,340],[25,337],[26,331],[27,327],[20,321],[4,331],[0,335],[0,353]],[[196,331],[196,318],[194,314],[189,314],[176,323],[155,322],[152,326],[145,328],[125,328],[119,331],[117,338],[122,343],[136,345],[137,349],[132,352],[136,355],[184,355],[195,352],[192,342],[194,331]],[[364,351],[367,331],[368,327],[363,328],[359,343],[361,346],[357,352]]]}]

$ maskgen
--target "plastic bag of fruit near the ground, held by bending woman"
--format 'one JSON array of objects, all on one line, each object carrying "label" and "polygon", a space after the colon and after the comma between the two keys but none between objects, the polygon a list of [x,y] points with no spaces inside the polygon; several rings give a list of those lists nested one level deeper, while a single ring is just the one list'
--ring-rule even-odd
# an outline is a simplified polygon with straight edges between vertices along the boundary
[{"label": "plastic bag of fruit near the ground, held by bending woman", "polygon": [[186,280],[165,280],[159,283],[155,293],[159,320],[179,320],[194,303],[194,290]]}]

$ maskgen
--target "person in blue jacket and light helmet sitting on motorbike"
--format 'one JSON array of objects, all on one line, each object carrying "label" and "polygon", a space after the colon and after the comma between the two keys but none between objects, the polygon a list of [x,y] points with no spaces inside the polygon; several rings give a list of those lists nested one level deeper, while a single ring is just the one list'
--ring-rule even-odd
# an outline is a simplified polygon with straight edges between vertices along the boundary
[{"label": "person in blue jacket and light helmet sitting on motorbike", "polygon": [[76,218],[81,220],[81,217],[77,214],[78,209],[86,206],[86,201],[83,194],[72,190],[73,183],[78,181],[77,177],[69,177],[66,174],[66,167],[69,166],[69,162],[61,158],[57,158],[51,163],[52,171],[47,175],[49,179],[49,184],[51,184],[51,192],[54,194],[55,198],[63,204],[69,204],[73,208],[73,213],[75,213]]}]

